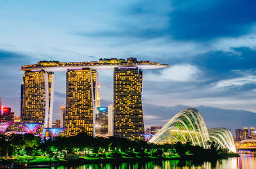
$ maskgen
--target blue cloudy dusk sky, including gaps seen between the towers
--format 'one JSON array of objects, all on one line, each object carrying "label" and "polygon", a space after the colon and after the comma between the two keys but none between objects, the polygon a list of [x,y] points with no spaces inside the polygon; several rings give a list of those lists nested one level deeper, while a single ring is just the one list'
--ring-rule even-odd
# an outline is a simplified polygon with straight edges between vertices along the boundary
[{"label": "blue cloudy dusk sky, including gaps seen between the towers", "polygon": [[[20,114],[20,66],[42,60],[137,57],[145,127],[198,108],[209,128],[256,128],[256,1],[0,0],[0,97]],[[113,103],[113,72],[99,71],[101,105]],[[54,119],[65,105],[56,73]]]}]

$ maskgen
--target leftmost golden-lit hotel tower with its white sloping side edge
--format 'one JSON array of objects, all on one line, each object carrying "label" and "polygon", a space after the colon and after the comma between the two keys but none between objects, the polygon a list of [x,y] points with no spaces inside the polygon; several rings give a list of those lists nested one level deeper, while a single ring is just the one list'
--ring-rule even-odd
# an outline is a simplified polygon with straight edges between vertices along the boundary
[{"label": "leftmost golden-lit hotel tower with its white sloping side edge", "polygon": [[[23,101],[21,122],[42,122],[52,127],[55,75],[45,71],[26,71],[23,75]],[[45,135],[45,129],[38,129]],[[43,131],[43,132],[42,132]]]}]

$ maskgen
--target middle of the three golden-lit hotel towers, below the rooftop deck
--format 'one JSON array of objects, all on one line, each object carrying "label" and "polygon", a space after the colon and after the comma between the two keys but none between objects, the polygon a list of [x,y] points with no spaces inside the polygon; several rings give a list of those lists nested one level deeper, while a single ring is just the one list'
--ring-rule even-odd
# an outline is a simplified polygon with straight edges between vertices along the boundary
[{"label": "middle of the three golden-lit hotel towers, below the rooftop deck", "polygon": [[67,71],[66,136],[83,131],[95,135],[97,76],[97,71],[88,68]]}]

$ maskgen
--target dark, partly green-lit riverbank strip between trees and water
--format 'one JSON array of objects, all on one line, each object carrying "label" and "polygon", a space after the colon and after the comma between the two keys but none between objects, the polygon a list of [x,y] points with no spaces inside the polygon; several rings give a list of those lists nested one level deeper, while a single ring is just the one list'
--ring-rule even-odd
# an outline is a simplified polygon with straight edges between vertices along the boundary
[{"label": "dark, partly green-lit riverbank strip between trees and water", "polygon": [[[93,163],[131,163],[131,162],[147,162],[147,161],[163,161],[163,160],[182,160],[182,161],[214,161],[217,159],[225,159],[239,157],[239,154],[223,154],[216,159],[205,159],[205,158],[195,158],[193,156],[188,156],[186,158],[174,158],[174,157],[121,157],[121,158],[71,158],[71,159],[49,159],[42,157],[33,157],[34,159],[3,159],[0,162],[9,167],[20,167],[20,168],[44,168],[49,166],[74,166],[74,165],[85,165]],[[3,166],[3,165],[2,165]]]}]

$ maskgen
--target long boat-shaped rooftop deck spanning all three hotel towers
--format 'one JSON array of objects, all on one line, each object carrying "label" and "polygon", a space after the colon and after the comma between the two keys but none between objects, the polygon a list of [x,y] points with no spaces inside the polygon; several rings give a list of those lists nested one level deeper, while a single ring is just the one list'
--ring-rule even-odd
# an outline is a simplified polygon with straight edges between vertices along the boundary
[{"label": "long boat-shaped rooftop deck spanning all three hotel towers", "polygon": [[59,61],[40,61],[37,64],[21,66],[20,70],[25,71],[67,71],[90,68],[91,70],[114,70],[116,67],[137,66],[139,69],[160,69],[166,68],[168,64],[159,64],[158,62],[136,61],[135,58],[124,59],[100,59],[99,62],[59,62]]}]

